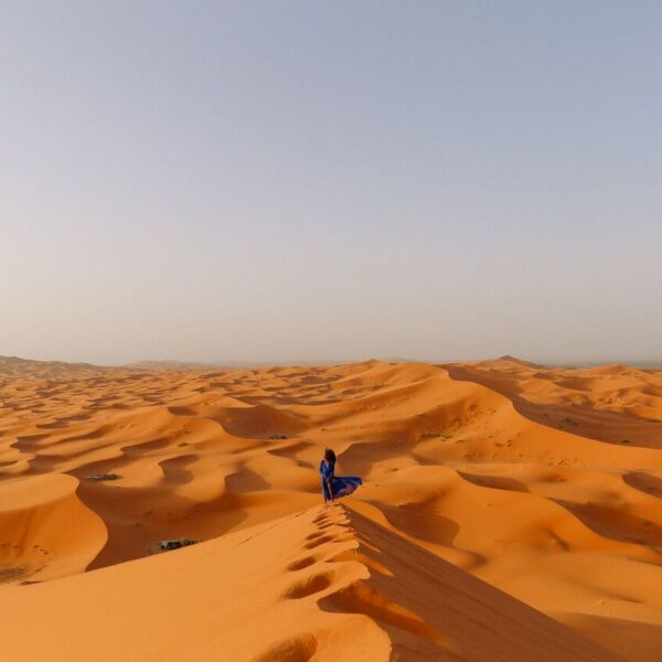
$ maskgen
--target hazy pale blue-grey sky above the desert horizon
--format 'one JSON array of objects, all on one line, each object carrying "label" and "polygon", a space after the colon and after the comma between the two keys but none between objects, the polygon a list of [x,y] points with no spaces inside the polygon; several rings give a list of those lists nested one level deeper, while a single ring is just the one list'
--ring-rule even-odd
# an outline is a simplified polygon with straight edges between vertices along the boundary
[{"label": "hazy pale blue-grey sky above the desert horizon", "polygon": [[661,25],[3,2],[0,354],[662,359]]}]

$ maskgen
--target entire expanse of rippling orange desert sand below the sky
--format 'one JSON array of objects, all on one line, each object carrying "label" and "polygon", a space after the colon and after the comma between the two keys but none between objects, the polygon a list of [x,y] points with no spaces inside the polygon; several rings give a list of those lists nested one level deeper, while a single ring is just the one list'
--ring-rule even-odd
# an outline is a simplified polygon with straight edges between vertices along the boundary
[{"label": "entire expanse of rippling orange desert sand below the sky", "polygon": [[2,658],[652,662],[661,498],[661,372],[0,359]]}]

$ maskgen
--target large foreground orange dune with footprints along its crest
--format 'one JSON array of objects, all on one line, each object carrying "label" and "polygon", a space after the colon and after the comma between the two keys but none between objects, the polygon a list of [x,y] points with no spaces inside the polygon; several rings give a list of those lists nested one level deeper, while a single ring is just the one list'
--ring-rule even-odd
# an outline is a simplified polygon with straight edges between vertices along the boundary
[{"label": "large foreground orange dune with footprints along its crest", "polygon": [[0,613],[17,662],[618,660],[341,505],[10,587]]}]

